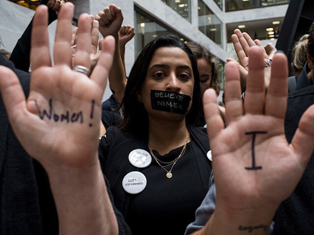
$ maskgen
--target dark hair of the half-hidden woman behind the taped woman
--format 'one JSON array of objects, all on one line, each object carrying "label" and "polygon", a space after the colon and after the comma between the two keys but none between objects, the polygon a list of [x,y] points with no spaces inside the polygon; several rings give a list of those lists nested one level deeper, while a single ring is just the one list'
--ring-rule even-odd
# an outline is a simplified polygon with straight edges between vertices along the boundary
[{"label": "dark hair of the half-hidden woman behind the taped woman", "polygon": [[201,44],[196,43],[196,42],[188,42],[186,44],[193,54],[195,55],[196,59],[202,59],[205,58],[208,63],[210,64],[211,67],[211,80],[209,86],[213,88],[218,95],[220,92],[220,85],[218,81],[218,71],[215,65],[215,58],[214,56],[210,53],[209,49],[206,47],[203,47]]}]

